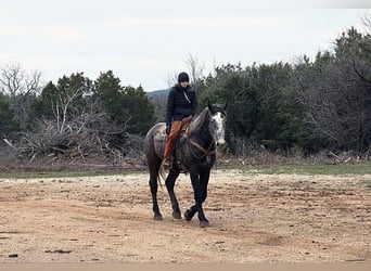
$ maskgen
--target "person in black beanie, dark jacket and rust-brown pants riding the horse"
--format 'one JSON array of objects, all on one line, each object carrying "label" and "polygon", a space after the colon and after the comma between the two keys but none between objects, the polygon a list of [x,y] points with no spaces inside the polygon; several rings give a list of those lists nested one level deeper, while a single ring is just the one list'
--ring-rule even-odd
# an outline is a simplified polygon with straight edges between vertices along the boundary
[{"label": "person in black beanie, dark jacket and rust-brown pants riding the horse", "polygon": [[171,153],[175,143],[182,130],[194,115],[199,113],[199,102],[195,89],[190,85],[187,73],[178,75],[178,83],[168,94],[166,105],[166,138],[164,150],[164,167],[171,166]]}]

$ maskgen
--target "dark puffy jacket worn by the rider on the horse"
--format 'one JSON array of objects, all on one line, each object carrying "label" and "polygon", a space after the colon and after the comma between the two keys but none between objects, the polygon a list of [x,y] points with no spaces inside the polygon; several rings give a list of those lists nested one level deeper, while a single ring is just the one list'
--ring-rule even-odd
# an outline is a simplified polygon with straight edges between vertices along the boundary
[{"label": "dark puffy jacket worn by the rider on the horse", "polygon": [[179,85],[174,86],[167,96],[166,127],[171,127],[174,120],[182,120],[197,114],[199,102],[194,88],[188,86],[183,89]]}]

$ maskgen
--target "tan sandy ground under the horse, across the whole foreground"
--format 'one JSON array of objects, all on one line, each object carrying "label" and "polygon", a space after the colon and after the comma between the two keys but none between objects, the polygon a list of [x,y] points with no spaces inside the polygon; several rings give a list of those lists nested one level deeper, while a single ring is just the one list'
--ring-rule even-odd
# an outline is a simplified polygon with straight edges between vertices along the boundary
[{"label": "tan sandy ground under the horse, across the whole foreground", "polygon": [[[148,175],[0,179],[0,262],[371,261],[371,176],[214,170],[209,228],[152,219]],[[188,176],[176,193],[193,204]]]}]

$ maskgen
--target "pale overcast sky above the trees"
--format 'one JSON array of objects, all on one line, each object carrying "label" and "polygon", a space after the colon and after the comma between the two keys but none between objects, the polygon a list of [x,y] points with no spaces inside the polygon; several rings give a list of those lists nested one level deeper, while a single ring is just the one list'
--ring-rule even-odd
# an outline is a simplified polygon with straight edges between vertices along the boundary
[{"label": "pale overcast sky above the trees", "polygon": [[[190,55],[205,75],[228,63],[293,62],[362,33],[360,0],[1,1],[0,67],[20,64],[44,81],[112,69],[123,86],[165,89]],[[369,29],[370,30],[370,29]]]}]

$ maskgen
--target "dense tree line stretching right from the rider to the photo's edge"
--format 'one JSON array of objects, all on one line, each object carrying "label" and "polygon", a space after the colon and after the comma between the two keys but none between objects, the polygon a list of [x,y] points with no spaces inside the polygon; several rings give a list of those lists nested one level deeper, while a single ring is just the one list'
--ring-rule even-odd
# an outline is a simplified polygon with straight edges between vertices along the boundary
[{"label": "dense tree line stretching right from the rider to the photo's edge", "polygon": [[355,28],[311,61],[223,65],[197,81],[203,104],[228,102],[233,154],[264,146],[290,154],[371,147],[371,37]]}]

